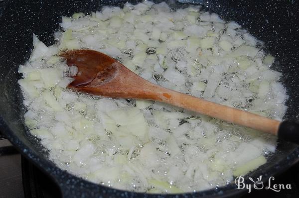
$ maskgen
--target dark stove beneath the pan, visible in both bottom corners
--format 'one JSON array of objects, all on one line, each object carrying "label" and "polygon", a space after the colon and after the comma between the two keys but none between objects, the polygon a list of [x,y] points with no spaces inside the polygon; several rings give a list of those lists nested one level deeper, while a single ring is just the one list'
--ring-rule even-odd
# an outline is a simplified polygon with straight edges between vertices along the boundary
[{"label": "dark stove beneath the pan, visible in both bottom corners", "polygon": [[[241,198],[298,198],[299,164],[275,177],[274,184],[291,184],[292,189],[281,192],[253,190]],[[265,184],[265,186],[268,186]],[[30,161],[21,156],[0,133],[0,198],[60,198],[58,186]]]}]

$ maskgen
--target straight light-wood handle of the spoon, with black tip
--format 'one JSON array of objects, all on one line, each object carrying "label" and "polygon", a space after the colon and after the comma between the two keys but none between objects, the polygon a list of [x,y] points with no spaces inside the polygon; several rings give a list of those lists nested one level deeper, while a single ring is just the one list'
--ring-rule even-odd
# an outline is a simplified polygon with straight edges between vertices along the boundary
[{"label": "straight light-wood handle of the spoon, with black tip", "polygon": [[278,121],[237,108],[225,106],[205,99],[196,98],[176,91],[158,87],[156,100],[209,115],[230,123],[247,126],[271,133],[290,142],[299,144],[299,124]]}]

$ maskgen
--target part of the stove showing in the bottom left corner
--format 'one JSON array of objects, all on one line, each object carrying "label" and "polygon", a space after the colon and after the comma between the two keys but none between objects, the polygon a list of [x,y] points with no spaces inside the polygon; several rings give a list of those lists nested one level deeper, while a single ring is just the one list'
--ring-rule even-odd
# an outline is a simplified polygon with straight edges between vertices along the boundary
[{"label": "part of the stove showing in the bottom left corner", "polygon": [[60,198],[58,186],[0,133],[0,198]]}]

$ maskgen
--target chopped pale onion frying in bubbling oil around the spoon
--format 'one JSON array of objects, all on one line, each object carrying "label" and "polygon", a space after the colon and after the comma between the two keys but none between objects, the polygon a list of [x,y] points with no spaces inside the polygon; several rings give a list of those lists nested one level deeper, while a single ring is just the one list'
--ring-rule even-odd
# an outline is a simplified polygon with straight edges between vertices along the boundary
[{"label": "chopped pale onion frying in bubbling oil around the spoon", "polygon": [[170,7],[148,0],[62,17],[52,46],[33,34],[31,57],[18,69],[24,122],[57,166],[112,188],[184,193],[224,186],[275,152],[276,139],[252,129],[67,88],[78,68],[57,54],[94,49],[155,85],[281,120],[288,96],[270,69],[274,57],[257,47],[263,42],[201,6]]}]

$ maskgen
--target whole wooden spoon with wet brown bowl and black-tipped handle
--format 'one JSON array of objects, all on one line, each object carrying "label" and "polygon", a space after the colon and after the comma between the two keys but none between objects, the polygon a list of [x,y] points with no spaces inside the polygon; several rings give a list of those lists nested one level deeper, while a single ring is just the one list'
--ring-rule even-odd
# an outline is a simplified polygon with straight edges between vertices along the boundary
[{"label": "whole wooden spoon with wet brown bowl and black-tipped handle", "polygon": [[67,60],[68,66],[78,67],[70,88],[103,97],[157,100],[299,143],[299,124],[295,122],[280,122],[154,85],[94,50],[70,50],[60,56]]}]

